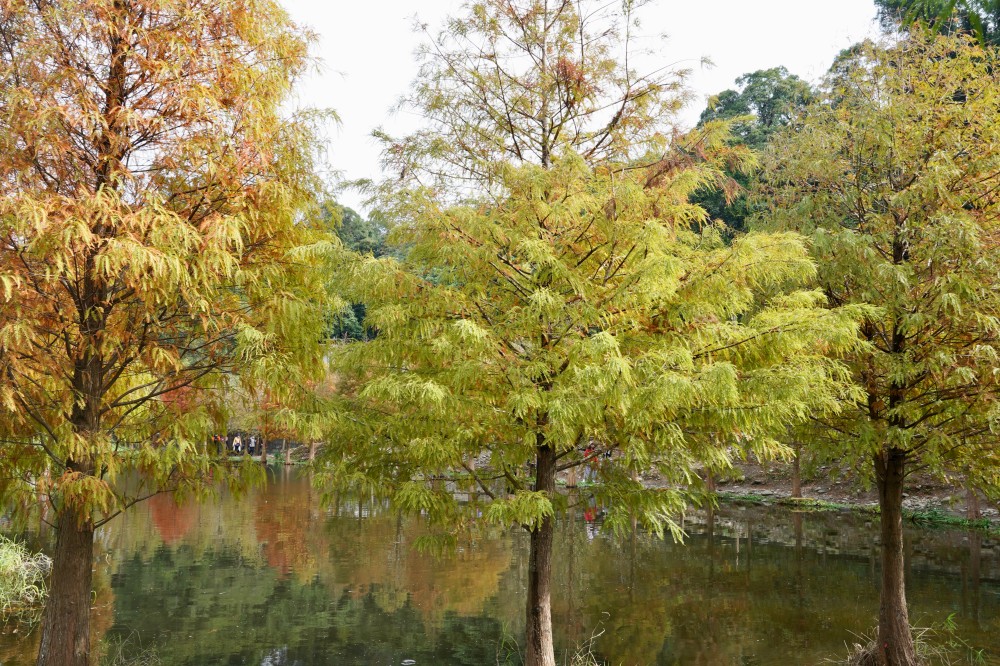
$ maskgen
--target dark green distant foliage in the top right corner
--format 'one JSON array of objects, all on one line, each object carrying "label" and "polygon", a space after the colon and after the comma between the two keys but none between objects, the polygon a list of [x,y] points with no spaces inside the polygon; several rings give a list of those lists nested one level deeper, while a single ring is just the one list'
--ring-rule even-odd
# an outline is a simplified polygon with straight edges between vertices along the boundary
[{"label": "dark green distant foliage in the top right corner", "polygon": [[916,22],[942,32],[967,32],[983,44],[1000,44],[1000,0],[875,0],[888,29]]}]

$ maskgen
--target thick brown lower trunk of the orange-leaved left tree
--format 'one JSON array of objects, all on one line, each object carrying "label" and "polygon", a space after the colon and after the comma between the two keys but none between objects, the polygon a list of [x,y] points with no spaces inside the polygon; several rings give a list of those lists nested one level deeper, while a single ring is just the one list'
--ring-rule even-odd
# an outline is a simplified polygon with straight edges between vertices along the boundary
[{"label": "thick brown lower trunk of the orange-leaved left tree", "polygon": [[63,509],[58,518],[49,597],[42,621],[38,666],[87,666],[90,659],[90,590],[94,524]]}]

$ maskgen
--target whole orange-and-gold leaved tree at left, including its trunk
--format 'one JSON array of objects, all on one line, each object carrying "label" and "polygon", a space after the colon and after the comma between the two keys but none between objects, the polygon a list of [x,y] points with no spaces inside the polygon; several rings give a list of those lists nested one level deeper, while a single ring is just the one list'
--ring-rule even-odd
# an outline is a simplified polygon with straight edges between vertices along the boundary
[{"label": "whole orange-and-gold leaved tree at left, including its trunk", "polygon": [[86,663],[94,529],[226,476],[224,376],[320,367],[309,41],[270,0],[0,7],[0,491],[59,527],[40,664]]}]

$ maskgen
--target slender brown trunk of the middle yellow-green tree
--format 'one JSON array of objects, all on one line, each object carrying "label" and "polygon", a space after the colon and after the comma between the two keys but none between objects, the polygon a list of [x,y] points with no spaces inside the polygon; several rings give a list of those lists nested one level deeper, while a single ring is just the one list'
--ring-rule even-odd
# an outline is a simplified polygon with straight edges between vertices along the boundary
[{"label": "slender brown trunk of the middle yellow-green tree", "polygon": [[[547,444],[538,447],[535,490],[550,496],[556,488],[556,452]],[[552,642],[552,541],[555,525],[551,517],[529,530],[527,623],[524,666],[556,666]]]}]

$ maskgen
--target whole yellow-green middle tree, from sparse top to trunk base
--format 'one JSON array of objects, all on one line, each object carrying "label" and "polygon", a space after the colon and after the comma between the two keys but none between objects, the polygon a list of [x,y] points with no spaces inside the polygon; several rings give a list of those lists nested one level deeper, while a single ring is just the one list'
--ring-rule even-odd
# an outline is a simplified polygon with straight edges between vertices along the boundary
[{"label": "whole yellow-green middle tree, from sparse top to trunk base", "polygon": [[851,313],[808,290],[796,235],[727,247],[702,225],[689,198],[740,149],[721,123],[671,133],[682,78],[625,65],[631,3],[611,6],[477,2],[428,46],[405,101],[429,126],[381,135],[376,200],[407,252],[342,280],[377,335],[333,352],[356,418],[326,480],[444,536],[526,529],[531,666],[555,664],[560,472],[596,470],[609,528],[679,536],[696,466],[786,453],[776,433],[850,392],[826,354],[854,344]]}]

